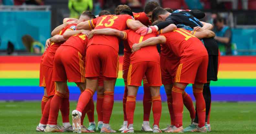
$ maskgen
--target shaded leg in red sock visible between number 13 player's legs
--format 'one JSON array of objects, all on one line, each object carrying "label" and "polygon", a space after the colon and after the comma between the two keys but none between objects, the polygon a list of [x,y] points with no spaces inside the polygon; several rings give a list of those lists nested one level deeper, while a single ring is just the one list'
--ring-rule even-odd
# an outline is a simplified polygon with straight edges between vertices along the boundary
[{"label": "shaded leg in red sock visible between number 13 player's legs", "polygon": [[104,83],[103,83],[103,76],[98,78],[98,89],[97,89],[97,103],[96,103],[96,110],[98,115],[98,126],[97,130],[101,131],[101,127],[103,125],[103,110],[102,104],[104,99]]}]

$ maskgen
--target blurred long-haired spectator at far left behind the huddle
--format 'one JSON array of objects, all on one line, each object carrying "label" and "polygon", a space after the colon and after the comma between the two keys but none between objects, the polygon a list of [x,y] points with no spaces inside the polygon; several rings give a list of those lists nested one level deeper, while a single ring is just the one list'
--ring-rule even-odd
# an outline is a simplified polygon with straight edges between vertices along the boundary
[{"label": "blurred long-haired spectator at far left behind the huddle", "polygon": [[44,53],[44,45],[35,41],[30,35],[22,36],[22,43],[30,53]]}]

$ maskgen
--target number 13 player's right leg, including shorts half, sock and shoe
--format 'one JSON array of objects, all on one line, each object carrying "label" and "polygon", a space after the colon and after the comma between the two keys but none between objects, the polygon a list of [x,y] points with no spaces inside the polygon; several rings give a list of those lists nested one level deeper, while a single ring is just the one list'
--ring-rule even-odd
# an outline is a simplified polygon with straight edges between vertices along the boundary
[{"label": "number 13 player's right leg, including shorts half, sock and shoe", "polygon": [[98,45],[102,51],[100,52],[102,75],[104,76],[104,99],[103,99],[103,126],[101,132],[116,132],[109,125],[114,104],[114,87],[119,71],[119,55],[110,46]]}]

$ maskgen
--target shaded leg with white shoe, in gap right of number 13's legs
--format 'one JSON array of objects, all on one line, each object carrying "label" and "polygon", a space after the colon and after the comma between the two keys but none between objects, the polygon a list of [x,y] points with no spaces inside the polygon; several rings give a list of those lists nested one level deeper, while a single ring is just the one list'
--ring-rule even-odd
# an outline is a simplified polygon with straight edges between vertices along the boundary
[{"label": "shaded leg with white shoe, in gap right of number 13's legs", "polygon": [[[123,66],[124,69],[124,66]],[[129,69],[125,69],[123,70],[123,81],[124,81],[124,93],[123,93],[123,125],[121,126],[121,128],[118,131],[123,131],[124,129],[127,128],[127,116],[126,116],[126,109],[125,109],[125,105],[126,105],[126,100],[127,100],[127,74],[128,74]]]}]

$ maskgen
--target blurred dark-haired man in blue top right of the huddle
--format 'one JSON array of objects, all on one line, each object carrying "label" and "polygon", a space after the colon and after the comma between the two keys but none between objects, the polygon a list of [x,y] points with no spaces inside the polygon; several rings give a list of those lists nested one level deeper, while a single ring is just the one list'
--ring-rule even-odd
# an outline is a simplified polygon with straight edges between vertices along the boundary
[{"label": "blurred dark-haired man in blue top right of the huddle", "polygon": [[232,39],[232,31],[229,26],[224,24],[223,17],[217,17],[213,21],[215,27],[215,39],[219,45],[219,51],[221,55],[231,55],[231,39]]}]

